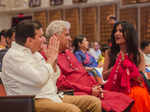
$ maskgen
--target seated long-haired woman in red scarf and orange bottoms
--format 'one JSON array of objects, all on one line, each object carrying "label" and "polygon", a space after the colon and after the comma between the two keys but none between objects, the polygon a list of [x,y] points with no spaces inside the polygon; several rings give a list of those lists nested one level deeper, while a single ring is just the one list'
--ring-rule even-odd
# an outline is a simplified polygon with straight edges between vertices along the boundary
[{"label": "seated long-haired woman in red scarf and orange bottoms", "polygon": [[132,24],[115,24],[112,46],[105,54],[104,89],[122,92],[134,99],[130,112],[150,112],[150,95],[139,71],[145,71],[145,61],[138,48],[138,38]]}]

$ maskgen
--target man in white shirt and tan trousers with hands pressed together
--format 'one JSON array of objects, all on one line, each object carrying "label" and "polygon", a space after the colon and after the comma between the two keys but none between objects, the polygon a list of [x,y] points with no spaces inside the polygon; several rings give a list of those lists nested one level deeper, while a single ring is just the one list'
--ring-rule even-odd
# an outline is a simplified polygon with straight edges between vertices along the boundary
[{"label": "man in white shirt and tan trousers with hands pressed together", "polygon": [[51,36],[45,61],[38,53],[42,35],[37,22],[23,21],[17,25],[16,42],[3,60],[2,81],[7,95],[35,95],[36,112],[101,112],[101,103],[95,97],[57,94],[60,40]]}]

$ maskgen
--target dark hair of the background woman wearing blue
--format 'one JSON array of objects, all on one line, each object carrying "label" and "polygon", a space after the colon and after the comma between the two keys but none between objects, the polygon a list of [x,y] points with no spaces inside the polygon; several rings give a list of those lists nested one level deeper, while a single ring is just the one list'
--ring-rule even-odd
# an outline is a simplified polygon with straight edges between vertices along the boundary
[{"label": "dark hair of the background woman wearing blue", "polygon": [[82,43],[83,39],[86,38],[84,35],[78,35],[75,37],[73,43],[72,43],[72,46],[74,47],[74,51],[73,52],[76,52],[78,51],[80,48],[79,48],[79,43]]}]

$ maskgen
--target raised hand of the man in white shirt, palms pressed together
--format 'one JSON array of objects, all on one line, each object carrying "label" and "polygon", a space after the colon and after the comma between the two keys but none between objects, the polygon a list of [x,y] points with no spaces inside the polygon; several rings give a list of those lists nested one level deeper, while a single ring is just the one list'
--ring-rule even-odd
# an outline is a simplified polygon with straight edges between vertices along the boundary
[{"label": "raised hand of the man in white shirt, palms pressed together", "polygon": [[53,35],[48,43],[48,49],[46,52],[47,62],[52,66],[56,65],[57,56],[59,53],[59,40],[58,38]]}]

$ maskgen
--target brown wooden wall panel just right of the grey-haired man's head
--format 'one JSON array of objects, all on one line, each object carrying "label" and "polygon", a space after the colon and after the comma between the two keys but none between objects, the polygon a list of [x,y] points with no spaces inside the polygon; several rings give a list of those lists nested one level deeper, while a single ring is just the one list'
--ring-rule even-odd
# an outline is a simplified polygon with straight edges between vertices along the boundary
[{"label": "brown wooden wall panel just right of the grey-haired man's head", "polygon": [[71,23],[71,36],[74,39],[75,36],[80,33],[80,18],[79,18],[79,9],[66,9],[65,10],[65,20]]}]

